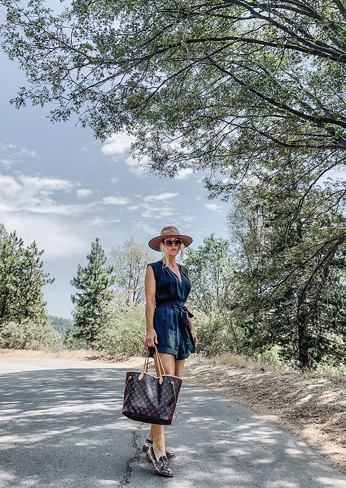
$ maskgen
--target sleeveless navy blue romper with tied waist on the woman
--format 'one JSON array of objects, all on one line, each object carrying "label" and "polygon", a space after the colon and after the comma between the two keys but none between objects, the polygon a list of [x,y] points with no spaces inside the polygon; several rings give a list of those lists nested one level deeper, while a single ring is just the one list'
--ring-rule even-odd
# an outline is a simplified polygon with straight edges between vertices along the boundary
[{"label": "sleeveless navy blue romper with tied waist on the woman", "polygon": [[[189,337],[187,314],[193,315],[185,307],[190,292],[191,282],[187,268],[179,266],[179,278],[162,261],[148,264],[154,271],[156,281],[156,304],[154,311],[154,329],[157,334],[157,349],[161,353],[173,354],[175,359],[185,359],[191,352],[196,352]],[[154,347],[150,347],[149,356],[153,357]]]}]

